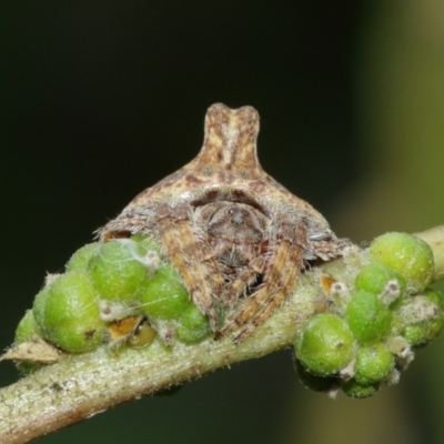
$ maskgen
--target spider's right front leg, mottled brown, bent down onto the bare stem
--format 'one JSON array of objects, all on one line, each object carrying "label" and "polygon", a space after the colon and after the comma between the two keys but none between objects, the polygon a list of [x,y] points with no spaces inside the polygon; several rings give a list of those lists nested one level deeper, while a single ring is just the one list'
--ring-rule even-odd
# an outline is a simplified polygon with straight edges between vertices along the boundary
[{"label": "spider's right front leg, mottled brown, bent down onto the bare stem", "polygon": [[303,246],[306,243],[304,224],[302,221],[292,223],[279,213],[274,225],[272,233],[275,239],[268,252],[270,255],[264,272],[264,283],[250,297],[249,303],[233,323],[220,333],[220,337],[243,325],[244,329],[235,336],[234,342],[239,343],[248,337],[283,303],[301,273]]}]

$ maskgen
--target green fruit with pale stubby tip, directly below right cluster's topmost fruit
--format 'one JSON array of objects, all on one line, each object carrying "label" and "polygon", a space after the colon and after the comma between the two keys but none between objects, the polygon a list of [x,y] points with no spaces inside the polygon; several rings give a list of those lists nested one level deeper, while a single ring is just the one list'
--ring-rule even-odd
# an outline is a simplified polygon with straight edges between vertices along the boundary
[{"label": "green fruit with pale stubby tip, directly below right cluster's topmost fruit", "polygon": [[390,303],[394,302],[397,297],[405,293],[405,279],[401,273],[392,270],[387,265],[373,262],[360,271],[354,281],[354,287],[356,290],[363,290],[369,293],[376,294],[380,296],[380,299],[382,299],[384,295],[390,295],[386,293],[390,293],[392,290],[390,285],[391,283],[393,283],[393,294],[392,300],[389,301]]}]

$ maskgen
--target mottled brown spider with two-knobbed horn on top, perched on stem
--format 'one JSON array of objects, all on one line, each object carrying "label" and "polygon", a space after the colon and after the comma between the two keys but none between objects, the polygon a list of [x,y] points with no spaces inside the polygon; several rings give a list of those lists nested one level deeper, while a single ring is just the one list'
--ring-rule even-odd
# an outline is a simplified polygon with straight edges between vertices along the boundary
[{"label": "mottled brown spider with two-knobbed horn on top, perched on stem", "polygon": [[350,243],[262,170],[258,132],[252,107],[213,104],[199,155],[101,230],[103,241],[137,233],[160,241],[216,337],[239,327],[235,342],[283,303],[305,261],[333,259]]}]

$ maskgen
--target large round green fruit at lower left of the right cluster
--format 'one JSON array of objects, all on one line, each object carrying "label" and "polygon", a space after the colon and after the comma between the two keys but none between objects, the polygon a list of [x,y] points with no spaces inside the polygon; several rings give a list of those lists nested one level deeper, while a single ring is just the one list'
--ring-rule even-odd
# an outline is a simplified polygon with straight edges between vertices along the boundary
[{"label": "large round green fruit at lower left of the right cluster", "polygon": [[314,315],[295,343],[296,359],[317,375],[331,375],[353,357],[354,337],[346,323],[330,313]]}]

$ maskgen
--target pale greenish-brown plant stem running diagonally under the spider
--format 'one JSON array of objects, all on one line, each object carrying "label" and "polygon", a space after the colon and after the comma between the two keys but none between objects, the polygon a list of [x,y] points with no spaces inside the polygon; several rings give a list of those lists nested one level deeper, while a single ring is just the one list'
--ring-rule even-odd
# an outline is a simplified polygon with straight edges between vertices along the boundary
[{"label": "pale greenish-brown plant stem running diagonally under the spider", "polygon": [[[418,236],[434,251],[435,280],[443,279],[444,226]],[[0,442],[24,443],[122,402],[290,346],[313,315],[316,296],[322,294],[320,273],[350,282],[367,261],[366,252],[355,248],[345,258],[304,273],[287,302],[239,345],[232,337],[191,346],[176,343],[172,347],[154,341],[142,350],[101,347],[67,355],[0,390]]]}]

